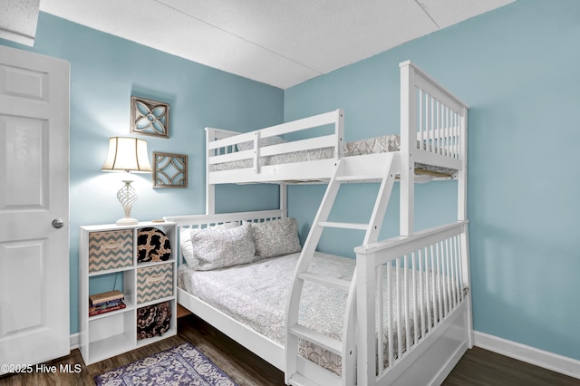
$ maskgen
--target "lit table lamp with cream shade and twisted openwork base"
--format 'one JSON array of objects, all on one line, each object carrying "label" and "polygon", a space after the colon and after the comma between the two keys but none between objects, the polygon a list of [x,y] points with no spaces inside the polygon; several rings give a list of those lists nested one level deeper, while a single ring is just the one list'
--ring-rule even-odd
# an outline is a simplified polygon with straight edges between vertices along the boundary
[{"label": "lit table lamp with cream shade and twisted openwork base", "polygon": [[[150,173],[147,141],[129,137],[111,137],[107,159],[102,171],[124,171],[126,173]],[[129,175],[129,174],[127,174]],[[125,185],[117,192],[117,198],[125,211],[125,217],[117,220],[118,226],[135,225],[138,221],[131,218],[131,207],[137,201],[137,191],[131,187],[131,179],[122,180]]]}]

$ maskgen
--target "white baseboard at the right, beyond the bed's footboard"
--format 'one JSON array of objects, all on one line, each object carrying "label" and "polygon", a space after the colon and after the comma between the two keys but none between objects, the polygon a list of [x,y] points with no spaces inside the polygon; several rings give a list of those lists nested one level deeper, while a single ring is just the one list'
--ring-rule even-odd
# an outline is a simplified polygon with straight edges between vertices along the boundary
[{"label": "white baseboard at the right, beyond the bed's footboard", "polygon": [[525,344],[508,341],[488,333],[473,332],[474,344],[490,352],[498,352],[518,361],[543,367],[580,379],[580,361],[553,352],[545,352]]}]

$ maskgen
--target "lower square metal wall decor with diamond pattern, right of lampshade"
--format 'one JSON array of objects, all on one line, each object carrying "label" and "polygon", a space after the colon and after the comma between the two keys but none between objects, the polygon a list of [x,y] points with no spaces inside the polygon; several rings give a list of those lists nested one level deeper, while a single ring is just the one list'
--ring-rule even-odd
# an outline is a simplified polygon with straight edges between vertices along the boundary
[{"label": "lower square metal wall decor with diamond pattern, right of lampshade", "polygon": [[188,188],[187,154],[153,151],[153,188]]}]

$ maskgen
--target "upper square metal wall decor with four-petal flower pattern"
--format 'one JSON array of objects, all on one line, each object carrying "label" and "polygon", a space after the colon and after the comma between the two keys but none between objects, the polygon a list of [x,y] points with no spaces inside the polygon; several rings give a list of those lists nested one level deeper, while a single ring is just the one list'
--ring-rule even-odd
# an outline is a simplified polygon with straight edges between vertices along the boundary
[{"label": "upper square metal wall decor with four-petal flower pattern", "polygon": [[169,103],[132,96],[131,134],[169,138]]}]

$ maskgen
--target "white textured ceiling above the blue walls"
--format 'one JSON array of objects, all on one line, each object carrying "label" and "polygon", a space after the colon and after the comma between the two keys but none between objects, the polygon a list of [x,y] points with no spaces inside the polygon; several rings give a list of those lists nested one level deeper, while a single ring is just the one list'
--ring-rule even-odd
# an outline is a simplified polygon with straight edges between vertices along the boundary
[{"label": "white textured ceiling above the blue walls", "polygon": [[40,9],[285,89],[514,0],[41,0]]}]

